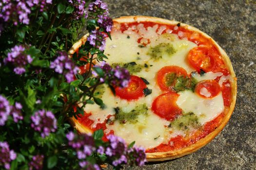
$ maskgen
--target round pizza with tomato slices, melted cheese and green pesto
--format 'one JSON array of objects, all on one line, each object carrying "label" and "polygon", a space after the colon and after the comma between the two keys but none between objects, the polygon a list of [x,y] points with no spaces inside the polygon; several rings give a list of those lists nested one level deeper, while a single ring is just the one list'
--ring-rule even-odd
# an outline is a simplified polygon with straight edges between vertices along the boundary
[{"label": "round pizza with tomato slices, melted cheese and green pesto", "polygon": [[[86,41],[74,44],[70,54]],[[96,93],[104,109],[88,104],[71,119],[80,133],[103,129],[146,149],[148,161],[197,151],[224,128],[236,102],[236,76],[230,59],[207,34],[157,17],[114,19],[106,40],[106,62],[131,73],[128,87],[105,85]]]}]

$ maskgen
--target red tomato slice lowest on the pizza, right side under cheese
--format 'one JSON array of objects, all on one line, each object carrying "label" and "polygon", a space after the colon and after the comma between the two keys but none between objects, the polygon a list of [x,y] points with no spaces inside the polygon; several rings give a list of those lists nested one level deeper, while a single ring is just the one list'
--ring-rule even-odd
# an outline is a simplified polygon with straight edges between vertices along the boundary
[{"label": "red tomato slice lowest on the pizza, right side under cheese", "polygon": [[174,120],[182,114],[182,109],[176,104],[178,96],[177,93],[173,92],[161,94],[154,100],[151,109],[161,118]]}]

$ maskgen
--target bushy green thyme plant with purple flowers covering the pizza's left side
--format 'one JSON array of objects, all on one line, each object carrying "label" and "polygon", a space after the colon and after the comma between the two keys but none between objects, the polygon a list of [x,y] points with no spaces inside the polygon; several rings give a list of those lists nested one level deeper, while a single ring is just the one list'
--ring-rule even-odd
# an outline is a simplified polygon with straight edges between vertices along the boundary
[{"label": "bushy green thyme plant with purple flowers covering the pizza's left side", "polygon": [[[129,83],[129,72],[104,62],[113,21],[102,0],[0,2],[0,169],[115,169],[145,163],[142,148],[103,131],[78,135],[70,117],[104,103],[98,85]],[[68,51],[84,29],[87,42]]]}]

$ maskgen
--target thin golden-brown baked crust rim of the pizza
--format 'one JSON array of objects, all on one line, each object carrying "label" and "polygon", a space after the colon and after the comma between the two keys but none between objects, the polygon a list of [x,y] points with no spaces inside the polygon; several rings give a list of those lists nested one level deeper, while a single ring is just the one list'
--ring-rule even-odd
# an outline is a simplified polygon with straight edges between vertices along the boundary
[{"label": "thin golden-brown baked crust rim of the pizza", "polygon": [[[158,17],[145,17],[145,16],[119,17],[119,18],[113,19],[113,21],[118,22],[118,23],[151,21],[151,22],[155,22],[155,23],[159,23],[159,24],[170,24],[170,25],[176,25],[176,24],[180,23],[180,22],[177,22],[174,20],[167,20],[167,19],[162,19],[162,18],[158,18]],[[184,23],[180,23],[180,26],[187,27],[186,28],[187,30],[197,32],[197,33],[204,35],[205,37],[211,39],[213,44],[216,45],[218,51],[220,52],[220,54],[222,56],[222,59],[223,59],[225,65],[227,66],[227,68],[229,69],[229,72],[230,72],[230,77],[231,77],[230,85],[231,85],[232,101],[231,101],[229,110],[225,112],[225,115],[221,121],[221,124],[212,133],[208,134],[204,138],[201,138],[196,143],[194,143],[188,147],[179,149],[179,150],[168,151],[168,152],[159,152],[159,153],[146,153],[147,161],[149,161],[149,162],[175,159],[175,158],[179,158],[179,157],[185,156],[187,154],[196,152],[198,149],[202,148],[203,146],[208,144],[212,139],[214,139],[214,137],[217,136],[217,134],[225,127],[225,125],[227,124],[228,120],[230,119],[230,117],[234,111],[235,104],[236,104],[236,92],[237,92],[236,75],[235,75],[234,69],[232,67],[231,61],[230,61],[228,55],[226,54],[226,52],[223,49],[221,49],[221,47],[217,44],[217,42],[214,41],[209,35],[201,32],[197,28],[192,27],[187,24],[184,24]],[[71,55],[75,51],[77,51],[79,49],[79,47],[85,43],[87,36],[88,36],[88,34],[84,35],[77,43],[75,43],[73,45],[73,47],[70,49],[70,51],[68,52],[68,54]],[[76,128],[79,133],[92,133],[92,131],[90,129],[88,129],[85,126],[83,126],[82,124],[80,124],[77,119],[71,118],[70,121],[71,121],[72,125],[74,126],[74,128]]]}]

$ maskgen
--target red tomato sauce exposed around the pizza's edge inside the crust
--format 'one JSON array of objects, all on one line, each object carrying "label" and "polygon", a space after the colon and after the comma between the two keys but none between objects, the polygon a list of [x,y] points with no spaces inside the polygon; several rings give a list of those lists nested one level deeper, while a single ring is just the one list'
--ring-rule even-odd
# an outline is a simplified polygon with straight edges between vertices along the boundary
[{"label": "red tomato sauce exposed around the pizza's edge inside the crust", "polygon": [[[144,24],[144,27],[153,27],[156,25],[154,22],[139,22]],[[138,22],[133,23],[121,23],[120,24],[120,31],[124,32],[128,28],[132,28],[133,26],[137,26],[139,24]],[[187,38],[189,41],[196,43],[198,46],[205,46],[207,47],[208,51],[207,53],[214,58],[214,67],[211,68],[209,71],[213,72],[222,72],[223,75],[227,76],[229,74],[229,71],[227,67],[224,64],[224,61],[221,59],[221,54],[217,50],[217,46],[213,43],[213,40],[211,38],[205,37],[203,34],[196,33],[193,31],[187,30],[186,26],[177,26],[177,25],[166,25],[166,24],[159,24],[158,26],[166,26],[167,28],[162,32],[162,34],[166,33],[166,30],[172,30],[172,34],[178,34],[179,32],[182,32],[182,37],[179,36],[180,39]],[[159,29],[158,27],[158,29]],[[175,28],[175,29],[174,29]],[[133,30],[137,31],[138,30]],[[158,32],[158,30],[157,30]],[[138,43],[140,43],[140,40],[142,37],[138,38]],[[148,41],[150,42],[150,41]],[[146,45],[146,44],[143,44]],[[82,68],[82,72],[85,72],[88,68],[84,67]],[[217,77],[215,80],[218,82],[220,77]],[[228,85],[229,84],[229,85]],[[229,80],[223,82],[221,87],[221,92],[224,100],[225,107],[229,107],[231,103],[231,87]],[[225,109],[226,110],[226,109]],[[93,124],[93,120],[89,119],[89,114],[84,114],[79,118],[79,122],[83,124],[85,127],[91,129],[92,131],[96,131],[98,129],[105,130],[106,129],[106,123],[107,119],[103,123],[98,123],[95,128],[91,128],[91,125]],[[193,134],[190,134],[188,136],[176,136],[169,140],[168,144],[160,144],[155,148],[146,150],[146,153],[155,153],[155,152],[167,152],[167,151],[174,151],[177,149],[181,149],[184,147],[187,147],[191,144],[196,143],[201,138],[204,138],[205,136],[209,135],[211,132],[213,132],[221,123],[222,119],[225,116],[225,111],[223,111],[217,118],[214,120],[207,122],[205,125],[203,125],[201,128],[199,128],[196,132]],[[109,116],[110,117],[110,116]],[[108,118],[109,118],[108,117]],[[109,134],[114,134],[113,130],[110,131]],[[107,134],[108,135],[108,134]],[[107,136],[104,133],[103,140],[107,141]]]}]

